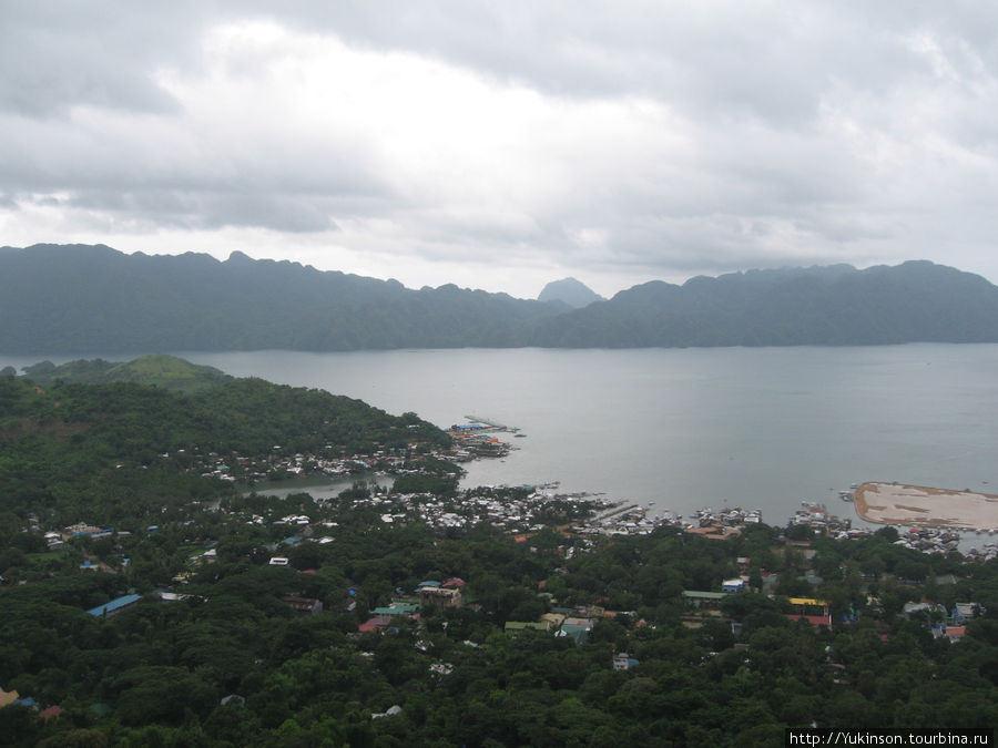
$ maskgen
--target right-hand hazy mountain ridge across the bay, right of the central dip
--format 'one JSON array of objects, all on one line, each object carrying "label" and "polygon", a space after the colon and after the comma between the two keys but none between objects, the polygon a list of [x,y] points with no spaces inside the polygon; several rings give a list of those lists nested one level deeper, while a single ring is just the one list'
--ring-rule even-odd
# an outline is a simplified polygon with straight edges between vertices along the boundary
[{"label": "right-hand hazy mountain ridge across the bay, right of the central dip", "polygon": [[998,288],[928,262],[651,281],[538,325],[534,345],[848,346],[998,341]]}]

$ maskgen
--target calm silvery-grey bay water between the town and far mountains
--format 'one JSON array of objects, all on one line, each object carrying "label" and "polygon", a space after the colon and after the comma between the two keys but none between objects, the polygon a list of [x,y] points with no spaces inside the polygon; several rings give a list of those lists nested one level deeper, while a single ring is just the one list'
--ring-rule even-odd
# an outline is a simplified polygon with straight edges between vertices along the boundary
[{"label": "calm silvery-grey bay water between the town and far mountains", "polygon": [[467,484],[558,480],[681,514],[758,508],[773,524],[802,500],[851,515],[837,491],[866,480],[998,492],[996,345],[177,355],[527,434],[503,437],[519,448],[503,461],[468,465]]}]

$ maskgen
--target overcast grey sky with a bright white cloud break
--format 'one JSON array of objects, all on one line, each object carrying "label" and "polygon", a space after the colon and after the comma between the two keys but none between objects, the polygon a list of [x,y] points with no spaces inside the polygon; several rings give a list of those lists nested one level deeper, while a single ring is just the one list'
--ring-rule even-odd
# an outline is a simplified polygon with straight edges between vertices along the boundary
[{"label": "overcast grey sky with a bright white cloud break", "polygon": [[406,286],[998,281],[998,4],[0,3],[0,245]]}]

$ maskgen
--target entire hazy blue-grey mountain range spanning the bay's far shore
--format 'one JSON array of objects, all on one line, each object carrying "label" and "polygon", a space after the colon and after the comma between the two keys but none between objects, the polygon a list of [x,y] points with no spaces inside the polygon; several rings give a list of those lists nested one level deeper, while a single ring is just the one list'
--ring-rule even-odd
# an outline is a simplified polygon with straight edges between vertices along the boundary
[{"label": "entire hazy blue-grey mountain range spanning the bay's far shore", "polygon": [[929,262],[651,281],[581,309],[298,264],[0,249],[0,351],[360,350],[998,341],[998,288]]}]

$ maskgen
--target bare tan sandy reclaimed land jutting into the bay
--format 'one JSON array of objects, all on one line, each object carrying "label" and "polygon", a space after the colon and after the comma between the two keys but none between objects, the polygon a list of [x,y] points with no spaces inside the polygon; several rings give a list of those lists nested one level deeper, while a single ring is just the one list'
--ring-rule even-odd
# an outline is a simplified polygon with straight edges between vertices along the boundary
[{"label": "bare tan sandy reclaimed land jutting into the bay", "polygon": [[867,522],[905,526],[998,530],[998,495],[902,483],[863,483],[854,494]]}]

